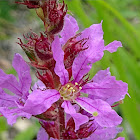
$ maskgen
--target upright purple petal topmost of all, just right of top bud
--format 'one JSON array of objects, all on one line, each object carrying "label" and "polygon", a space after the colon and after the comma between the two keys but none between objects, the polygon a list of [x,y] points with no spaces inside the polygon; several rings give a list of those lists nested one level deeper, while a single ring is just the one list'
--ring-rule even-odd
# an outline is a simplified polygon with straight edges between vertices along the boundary
[{"label": "upright purple petal topmost of all, just right of top bud", "polygon": [[64,27],[61,31],[61,43],[64,45],[71,37],[75,36],[79,30],[77,21],[70,15],[66,15],[64,19]]}]

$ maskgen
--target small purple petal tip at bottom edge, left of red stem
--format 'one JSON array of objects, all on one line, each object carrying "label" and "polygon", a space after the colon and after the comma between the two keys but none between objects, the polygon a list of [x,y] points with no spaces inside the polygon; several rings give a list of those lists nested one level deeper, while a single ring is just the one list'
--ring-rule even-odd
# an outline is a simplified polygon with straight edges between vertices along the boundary
[{"label": "small purple petal tip at bottom edge, left of red stem", "polygon": [[49,136],[44,128],[40,128],[37,134],[37,140],[48,140]]}]

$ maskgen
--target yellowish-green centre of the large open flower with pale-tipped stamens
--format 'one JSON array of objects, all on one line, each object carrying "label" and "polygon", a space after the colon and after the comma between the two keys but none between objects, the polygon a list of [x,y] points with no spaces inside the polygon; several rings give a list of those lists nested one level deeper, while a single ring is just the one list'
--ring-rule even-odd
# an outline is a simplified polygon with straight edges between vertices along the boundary
[{"label": "yellowish-green centre of the large open flower with pale-tipped stamens", "polygon": [[64,100],[75,100],[78,96],[80,96],[80,90],[82,87],[78,86],[78,83],[72,84],[67,83],[64,86],[61,87],[59,90],[59,93],[61,97],[63,97]]}]

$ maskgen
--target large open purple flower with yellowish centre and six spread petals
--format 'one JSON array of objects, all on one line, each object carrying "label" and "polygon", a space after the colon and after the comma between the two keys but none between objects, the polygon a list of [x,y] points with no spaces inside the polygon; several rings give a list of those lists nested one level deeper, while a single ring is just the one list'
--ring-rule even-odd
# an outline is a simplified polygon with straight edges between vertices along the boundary
[{"label": "large open purple flower with yellowish centre and six spread petals", "polygon": [[[31,111],[34,113],[34,115],[43,113],[50,108],[54,102],[61,99],[63,100],[62,107],[67,114],[70,114],[73,117],[76,129],[78,129],[81,124],[87,122],[88,117],[76,112],[73,107],[73,104],[75,103],[93,115],[93,119],[95,119],[95,121],[102,127],[114,127],[121,123],[121,117],[117,115],[117,113],[111,108],[105,99],[113,98],[114,101],[118,101],[119,99],[121,100],[127,93],[127,85],[112,78],[111,81],[109,81],[109,79],[105,79],[104,83],[106,82],[106,85],[101,82],[97,87],[95,87],[94,85],[97,85],[96,82],[85,79],[85,74],[87,74],[91,69],[92,63],[95,63],[102,58],[103,51],[108,50],[110,52],[114,52],[116,51],[116,48],[121,46],[121,43],[114,41],[105,47],[102,39],[103,31],[101,24],[95,24],[85,29],[80,38],[84,38],[86,36],[89,37],[89,40],[87,41],[89,47],[87,50],[80,52],[73,62],[73,79],[69,79],[69,74],[65,69],[63,63],[64,52],[61,48],[59,38],[55,38],[54,42],[52,43],[53,57],[56,61],[54,71],[59,76],[61,85],[57,90],[48,89],[42,93],[38,91],[35,94],[32,93],[29,95],[29,98],[25,104],[25,111],[29,110],[29,112]],[[95,79],[96,77],[100,78],[102,76],[103,75],[99,74],[99,77],[95,76]],[[108,84],[113,82],[113,88],[111,87],[111,84],[111,86],[107,86],[107,82]],[[93,92],[91,88],[89,90],[86,88],[89,86],[89,84],[94,89]],[[122,85],[120,86],[120,84]],[[84,97],[83,93],[85,93],[85,90],[86,94],[94,95],[94,93],[98,93],[97,95],[99,98],[93,100]],[[108,90],[110,90],[110,93],[113,92],[113,95],[108,93]],[[119,95],[117,95],[118,93]],[[104,97],[105,99],[102,99],[100,96]]]}]

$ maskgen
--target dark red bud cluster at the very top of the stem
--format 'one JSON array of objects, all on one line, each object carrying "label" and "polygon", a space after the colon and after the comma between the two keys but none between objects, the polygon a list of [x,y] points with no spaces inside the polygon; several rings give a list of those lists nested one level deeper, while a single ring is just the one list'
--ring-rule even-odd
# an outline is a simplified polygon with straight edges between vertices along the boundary
[{"label": "dark red bud cluster at the very top of the stem", "polygon": [[46,34],[54,35],[59,33],[64,25],[64,17],[67,12],[67,6],[58,3],[57,0],[45,0],[40,8],[36,9],[37,15],[44,22]]}]

